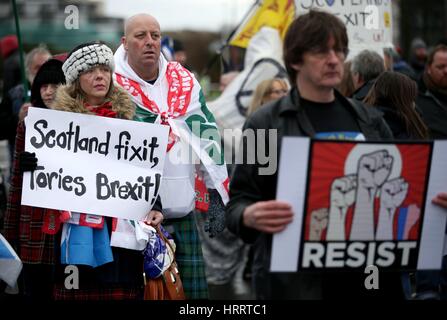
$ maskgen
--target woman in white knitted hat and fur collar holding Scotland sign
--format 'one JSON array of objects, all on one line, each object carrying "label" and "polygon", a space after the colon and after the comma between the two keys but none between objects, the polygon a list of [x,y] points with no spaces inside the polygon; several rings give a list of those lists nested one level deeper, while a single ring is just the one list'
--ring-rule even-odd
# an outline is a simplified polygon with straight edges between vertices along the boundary
[{"label": "woman in white knitted hat and fur collar holding Scotland sign", "polygon": [[[73,49],[62,67],[67,85],[58,89],[55,109],[132,119],[135,107],[128,94],[113,85],[113,61],[112,50],[101,43],[87,43]],[[81,226],[76,222],[87,221],[82,216],[83,214],[80,214],[79,219],[76,217],[73,219],[72,215],[69,220],[72,223],[64,223],[61,242],[62,263],[77,265],[79,269],[79,289],[67,288],[64,281],[67,275],[60,272],[61,277],[55,287],[54,298],[56,300],[140,298],[143,288],[141,251],[110,245],[111,234],[119,219],[93,215],[93,224]],[[146,222],[155,226],[162,220],[161,203],[158,200],[148,214]],[[65,256],[65,248],[75,249],[70,247],[70,243],[77,241],[73,237],[77,235],[79,239],[85,240],[85,234],[93,234],[93,239],[97,242],[78,245],[76,249],[82,253],[85,253],[85,248],[90,249],[93,259],[91,255],[90,257],[79,256],[76,261],[73,255]],[[86,266],[85,261],[95,263]]]}]

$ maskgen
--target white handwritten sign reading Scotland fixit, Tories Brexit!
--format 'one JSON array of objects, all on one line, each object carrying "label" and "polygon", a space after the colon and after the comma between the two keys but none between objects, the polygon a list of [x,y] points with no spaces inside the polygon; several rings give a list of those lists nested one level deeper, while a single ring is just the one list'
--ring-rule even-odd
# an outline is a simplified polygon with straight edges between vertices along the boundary
[{"label": "white handwritten sign reading Scotland fixit, Tories Brexit!", "polygon": [[132,220],[150,211],[168,127],[39,108],[25,121],[38,167],[23,176],[22,204]]}]

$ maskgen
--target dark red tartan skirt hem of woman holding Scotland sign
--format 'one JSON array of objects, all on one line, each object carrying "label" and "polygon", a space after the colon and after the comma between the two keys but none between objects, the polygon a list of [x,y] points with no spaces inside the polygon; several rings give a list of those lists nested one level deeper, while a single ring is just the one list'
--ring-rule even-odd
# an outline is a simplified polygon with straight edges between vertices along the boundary
[{"label": "dark red tartan skirt hem of woman holding Scotland sign", "polygon": [[95,301],[95,300],[141,300],[141,288],[120,285],[98,285],[86,289],[66,289],[57,284],[53,289],[54,300]]}]

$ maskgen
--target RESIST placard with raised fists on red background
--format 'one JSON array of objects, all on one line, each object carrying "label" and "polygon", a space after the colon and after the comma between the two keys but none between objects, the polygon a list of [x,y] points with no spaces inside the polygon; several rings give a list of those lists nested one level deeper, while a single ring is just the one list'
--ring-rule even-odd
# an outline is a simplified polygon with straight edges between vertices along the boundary
[{"label": "RESIST placard with raised fists on red background", "polygon": [[272,244],[271,271],[440,269],[447,141],[285,138],[277,199],[295,217]]}]

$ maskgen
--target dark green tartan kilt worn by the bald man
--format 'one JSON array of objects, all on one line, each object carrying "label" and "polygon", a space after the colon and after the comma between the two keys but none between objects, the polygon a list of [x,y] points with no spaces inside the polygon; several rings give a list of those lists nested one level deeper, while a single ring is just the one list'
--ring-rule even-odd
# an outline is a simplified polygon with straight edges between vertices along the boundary
[{"label": "dark green tartan kilt worn by the bald man", "polygon": [[[193,212],[178,219],[166,219],[165,229],[174,238],[175,260],[187,299],[208,299],[205,261]],[[172,233],[172,227],[174,232]]]}]

